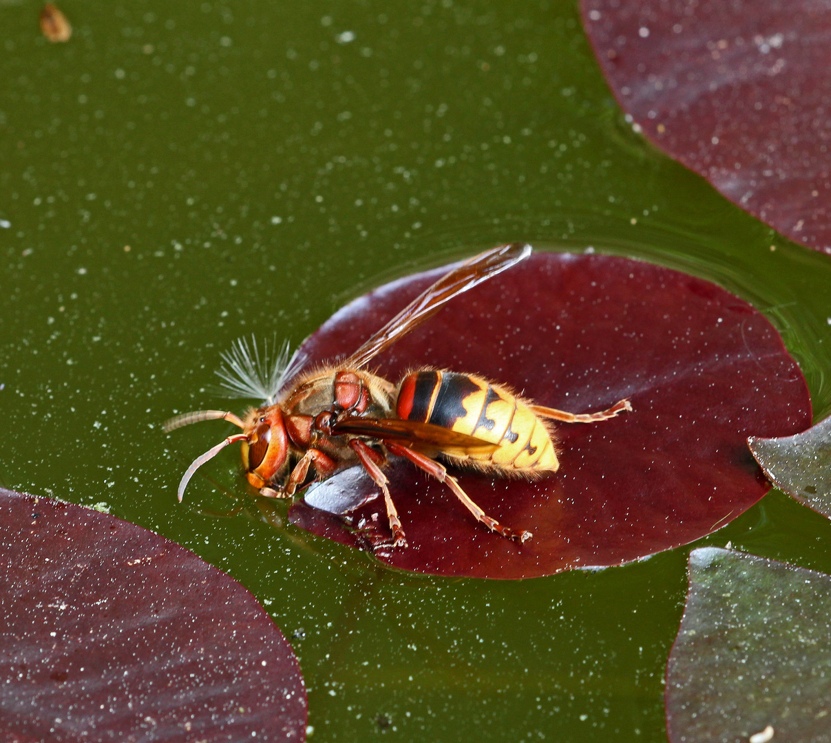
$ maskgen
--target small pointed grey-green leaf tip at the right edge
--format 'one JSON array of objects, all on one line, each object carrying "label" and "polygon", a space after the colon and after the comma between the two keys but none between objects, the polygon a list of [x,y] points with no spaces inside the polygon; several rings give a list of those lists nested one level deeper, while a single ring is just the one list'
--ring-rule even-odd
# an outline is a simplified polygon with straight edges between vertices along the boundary
[{"label": "small pointed grey-green leaf tip at the right edge", "polygon": [[831,518],[831,418],[795,436],[751,436],[747,444],[775,486]]}]

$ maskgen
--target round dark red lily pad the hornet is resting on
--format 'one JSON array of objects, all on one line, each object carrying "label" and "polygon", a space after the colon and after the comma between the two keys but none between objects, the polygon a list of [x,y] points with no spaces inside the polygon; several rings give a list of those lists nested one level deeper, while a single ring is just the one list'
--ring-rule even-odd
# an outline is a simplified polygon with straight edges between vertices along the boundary
[{"label": "round dark red lily pad the hornet is resting on", "polygon": [[[353,301],[304,345],[309,364],[356,349],[447,268]],[[490,516],[534,532],[519,545],[477,523],[442,484],[391,461],[391,496],[409,547],[388,549],[380,499],[347,518],[332,489],[360,502],[377,489],[342,473],[298,501],[293,523],[375,551],[399,568],[527,578],[619,565],[696,540],[758,501],[770,485],[746,437],[808,427],[799,367],[770,322],[708,281],[601,255],[537,253],[450,303],[373,362],[387,379],[424,365],[509,384],[573,413],[632,399],[632,413],[559,426],[560,470],[538,481],[460,472]],[[351,481],[346,481],[352,477]]]}]

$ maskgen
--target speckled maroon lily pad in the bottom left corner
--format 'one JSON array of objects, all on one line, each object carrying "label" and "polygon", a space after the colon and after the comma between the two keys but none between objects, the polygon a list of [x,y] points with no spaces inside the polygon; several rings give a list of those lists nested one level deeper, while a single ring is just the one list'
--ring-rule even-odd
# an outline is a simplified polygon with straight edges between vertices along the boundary
[{"label": "speckled maroon lily pad in the bottom left corner", "polygon": [[302,741],[306,713],[292,648],[234,579],[139,526],[0,489],[8,740]]}]

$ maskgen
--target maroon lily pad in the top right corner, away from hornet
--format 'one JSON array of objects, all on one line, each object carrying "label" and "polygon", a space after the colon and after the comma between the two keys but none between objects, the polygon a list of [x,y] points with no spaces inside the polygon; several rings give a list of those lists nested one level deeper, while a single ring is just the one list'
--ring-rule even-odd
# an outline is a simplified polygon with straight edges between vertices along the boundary
[{"label": "maroon lily pad in the top right corner, away from hornet", "polygon": [[814,0],[582,0],[638,130],[796,242],[831,253],[831,12]]}]

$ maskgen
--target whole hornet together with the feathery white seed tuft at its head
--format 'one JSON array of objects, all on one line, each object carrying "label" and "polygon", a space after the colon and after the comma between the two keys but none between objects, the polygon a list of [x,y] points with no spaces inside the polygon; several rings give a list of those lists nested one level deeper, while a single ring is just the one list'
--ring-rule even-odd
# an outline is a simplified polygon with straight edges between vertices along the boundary
[{"label": "whole hornet together with the feathery white seed tuft at its head", "polygon": [[596,423],[632,410],[629,401],[620,400],[597,413],[567,413],[534,404],[476,374],[421,368],[393,384],[364,369],[453,297],[530,254],[529,245],[511,243],[455,266],[346,359],[303,374],[299,372],[306,359],[297,352],[290,357],[288,345],[269,363],[268,353],[259,354],[255,343],[238,340],[223,354],[218,374],[229,393],[264,402],[243,418],[202,410],[165,423],[170,432],[221,418],[242,429],[194,460],[179,482],[179,501],[194,472],[235,442],[242,444],[248,482],[263,496],[288,498],[309,481],[359,465],[383,496],[391,545],[403,548],[404,527],[384,467],[389,457],[404,457],[443,482],[490,530],[520,543],[530,540],[530,531],[499,524],[484,513],[436,457],[496,477],[541,477],[559,467],[553,421]]}]

